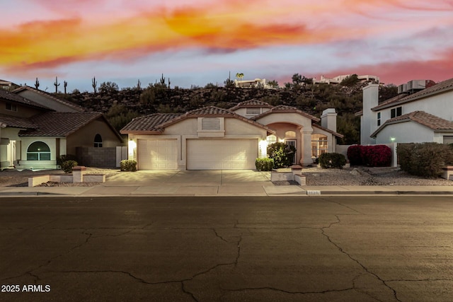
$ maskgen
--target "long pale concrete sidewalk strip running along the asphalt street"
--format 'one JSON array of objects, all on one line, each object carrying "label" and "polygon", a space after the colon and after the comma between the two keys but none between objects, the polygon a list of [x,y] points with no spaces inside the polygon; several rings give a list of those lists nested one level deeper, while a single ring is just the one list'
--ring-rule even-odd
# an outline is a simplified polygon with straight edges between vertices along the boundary
[{"label": "long pale concrete sidewalk strip running along the asphalt street", "polygon": [[369,194],[453,194],[453,186],[303,186],[273,185],[272,182],[255,185],[96,185],[93,187],[0,187],[1,197],[33,196],[319,196]]}]

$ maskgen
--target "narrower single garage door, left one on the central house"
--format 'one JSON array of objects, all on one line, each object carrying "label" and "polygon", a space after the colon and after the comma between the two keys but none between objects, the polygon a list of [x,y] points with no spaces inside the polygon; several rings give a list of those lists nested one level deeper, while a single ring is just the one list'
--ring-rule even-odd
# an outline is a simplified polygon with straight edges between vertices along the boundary
[{"label": "narrower single garage door, left one on the central house", "polygon": [[175,170],[178,168],[176,139],[139,139],[139,170]]}]

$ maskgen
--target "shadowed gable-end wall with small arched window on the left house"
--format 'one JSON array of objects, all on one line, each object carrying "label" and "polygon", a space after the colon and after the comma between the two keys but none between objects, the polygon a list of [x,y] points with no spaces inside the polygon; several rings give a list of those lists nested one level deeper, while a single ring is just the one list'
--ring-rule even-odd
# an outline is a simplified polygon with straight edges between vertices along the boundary
[{"label": "shadowed gable-end wall with small arched window on the left house", "polygon": [[86,124],[67,137],[67,154],[75,154],[76,147],[93,147],[96,134],[101,134],[103,147],[122,145],[122,141],[118,139],[115,132],[103,120],[98,119]]}]

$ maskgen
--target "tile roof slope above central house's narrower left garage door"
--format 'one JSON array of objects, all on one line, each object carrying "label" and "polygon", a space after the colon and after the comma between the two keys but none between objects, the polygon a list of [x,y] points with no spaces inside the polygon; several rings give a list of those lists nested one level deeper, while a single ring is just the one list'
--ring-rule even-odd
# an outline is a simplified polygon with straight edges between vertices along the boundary
[{"label": "tile roof slope above central house's narrower left garage door", "polygon": [[135,117],[129,124],[120,130],[121,134],[137,132],[162,132],[164,129],[159,127],[169,120],[179,117],[178,113],[154,113],[144,117]]}]

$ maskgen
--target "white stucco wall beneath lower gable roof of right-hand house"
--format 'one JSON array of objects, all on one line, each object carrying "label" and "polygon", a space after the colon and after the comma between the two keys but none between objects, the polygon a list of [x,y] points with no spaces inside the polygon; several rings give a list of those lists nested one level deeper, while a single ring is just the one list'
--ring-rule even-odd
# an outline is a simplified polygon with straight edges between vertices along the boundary
[{"label": "white stucco wall beneath lower gable roof of right-hand house", "polygon": [[[394,138],[394,141],[391,140]],[[434,132],[416,122],[389,124],[377,134],[376,144],[433,141]]]}]

